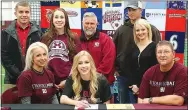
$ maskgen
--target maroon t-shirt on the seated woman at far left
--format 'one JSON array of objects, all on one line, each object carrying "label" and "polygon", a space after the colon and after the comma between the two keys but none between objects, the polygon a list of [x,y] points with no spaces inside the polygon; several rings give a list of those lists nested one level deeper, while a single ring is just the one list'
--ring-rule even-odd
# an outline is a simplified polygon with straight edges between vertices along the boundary
[{"label": "maroon t-shirt on the seated woman at far left", "polygon": [[51,104],[56,93],[54,76],[49,70],[43,74],[33,70],[22,72],[17,80],[18,97],[31,97],[32,104]]}]

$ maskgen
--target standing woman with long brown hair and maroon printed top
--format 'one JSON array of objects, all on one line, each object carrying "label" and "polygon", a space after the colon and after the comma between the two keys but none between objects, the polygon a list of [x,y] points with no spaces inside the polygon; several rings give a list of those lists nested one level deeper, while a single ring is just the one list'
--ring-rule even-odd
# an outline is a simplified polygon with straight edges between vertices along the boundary
[{"label": "standing woman with long brown hair and maroon printed top", "polygon": [[78,37],[70,30],[64,9],[54,10],[49,30],[43,35],[41,42],[49,48],[48,67],[55,75],[55,84],[61,90],[70,74],[74,55],[81,50]]}]

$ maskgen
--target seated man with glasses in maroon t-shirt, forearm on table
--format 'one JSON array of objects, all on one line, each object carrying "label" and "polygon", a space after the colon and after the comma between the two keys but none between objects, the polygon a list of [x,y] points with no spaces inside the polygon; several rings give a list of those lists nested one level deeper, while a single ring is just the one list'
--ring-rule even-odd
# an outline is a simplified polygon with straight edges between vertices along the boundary
[{"label": "seated man with glasses in maroon t-shirt, forearm on table", "polygon": [[169,41],[156,46],[159,64],[149,68],[140,85],[138,103],[183,105],[187,93],[187,67],[175,61],[175,52]]}]

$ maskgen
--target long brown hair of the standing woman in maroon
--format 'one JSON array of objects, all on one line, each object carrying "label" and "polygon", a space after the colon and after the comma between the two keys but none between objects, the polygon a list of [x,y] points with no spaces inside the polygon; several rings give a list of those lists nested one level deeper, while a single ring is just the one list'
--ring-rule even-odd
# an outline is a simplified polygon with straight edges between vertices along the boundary
[{"label": "long brown hair of the standing woman in maroon", "polygon": [[62,11],[65,15],[65,28],[64,28],[64,32],[68,37],[68,50],[69,50],[69,55],[70,56],[74,56],[76,54],[76,46],[75,46],[75,37],[76,34],[71,32],[70,30],[70,26],[69,26],[69,19],[68,19],[68,15],[66,13],[66,11],[62,8],[57,8],[52,12],[52,16],[50,18],[50,27],[48,29],[48,31],[42,36],[42,40],[41,42],[45,43],[48,47],[50,45],[50,43],[53,41],[54,37],[58,36],[58,32],[55,29],[55,26],[53,24],[53,17],[54,17],[54,13],[56,11]]}]

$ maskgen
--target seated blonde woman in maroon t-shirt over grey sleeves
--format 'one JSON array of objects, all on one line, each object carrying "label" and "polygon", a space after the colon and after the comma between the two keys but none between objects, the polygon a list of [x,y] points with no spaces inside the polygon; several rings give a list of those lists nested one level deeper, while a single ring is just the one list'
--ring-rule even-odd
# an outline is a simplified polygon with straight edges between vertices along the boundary
[{"label": "seated blonde woman in maroon t-shirt over grey sleeves", "polygon": [[48,48],[41,42],[27,50],[25,69],[17,80],[18,97],[22,104],[58,104],[54,76],[46,69]]}]

